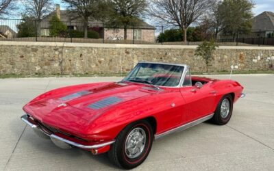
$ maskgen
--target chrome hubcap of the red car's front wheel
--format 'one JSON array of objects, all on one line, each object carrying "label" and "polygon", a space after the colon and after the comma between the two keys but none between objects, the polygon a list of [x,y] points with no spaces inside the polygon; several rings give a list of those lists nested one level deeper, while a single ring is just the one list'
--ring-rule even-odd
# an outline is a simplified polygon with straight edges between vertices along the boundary
[{"label": "chrome hubcap of the red car's front wheel", "polygon": [[144,129],[133,129],[125,140],[125,154],[130,159],[138,157],[145,148],[146,133]]}]

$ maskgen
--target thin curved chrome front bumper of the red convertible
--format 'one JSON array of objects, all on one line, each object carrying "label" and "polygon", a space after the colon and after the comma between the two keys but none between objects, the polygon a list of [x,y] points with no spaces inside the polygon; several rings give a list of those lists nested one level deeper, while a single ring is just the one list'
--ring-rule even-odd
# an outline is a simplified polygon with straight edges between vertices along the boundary
[{"label": "thin curved chrome front bumper of the red convertible", "polygon": [[[32,129],[34,129],[34,131],[41,131],[42,133],[45,133],[44,131],[42,131],[41,129],[39,129],[38,125],[36,124],[32,124],[31,122],[29,122],[27,120],[27,115],[23,115],[21,116],[21,120],[23,120],[23,122],[25,122],[27,125],[29,125],[29,127],[32,127]],[[54,134],[51,134],[49,135],[48,133],[45,133],[45,135],[51,137],[51,138],[55,138],[56,140],[60,140],[66,144],[70,144],[71,146],[76,146],[78,148],[85,148],[85,149],[93,149],[93,148],[101,148],[103,146],[108,146],[110,144],[113,144],[115,142],[115,140],[113,141],[110,141],[110,142],[104,142],[104,143],[101,143],[101,144],[95,144],[95,145],[92,145],[92,146],[85,146],[85,145],[82,145],[82,144],[78,144],[76,142],[72,142],[70,140],[66,140],[62,137],[59,137],[57,135],[54,135]]]}]

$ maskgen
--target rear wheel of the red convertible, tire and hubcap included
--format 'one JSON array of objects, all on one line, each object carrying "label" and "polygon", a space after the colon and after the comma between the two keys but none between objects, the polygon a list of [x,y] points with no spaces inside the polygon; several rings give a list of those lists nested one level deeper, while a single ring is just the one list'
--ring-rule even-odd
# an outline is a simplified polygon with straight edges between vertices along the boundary
[{"label": "rear wheel of the red convertible, tire and hubcap included", "polygon": [[[222,105],[223,105],[223,110],[222,110]],[[227,108],[225,107],[229,107],[228,111],[227,111]],[[214,116],[211,120],[214,124],[219,124],[219,125],[227,124],[227,122],[229,122],[232,116],[232,111],[233,111],[232,96],[230,94],[226,94],[219,101],[216,107]]]}]

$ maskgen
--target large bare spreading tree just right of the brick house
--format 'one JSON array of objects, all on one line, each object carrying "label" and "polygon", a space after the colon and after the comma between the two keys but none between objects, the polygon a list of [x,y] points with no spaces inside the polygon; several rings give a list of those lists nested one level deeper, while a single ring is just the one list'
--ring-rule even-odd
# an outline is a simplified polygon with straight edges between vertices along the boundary
[{"label": "large bare spreading tree just right of the brick house", "polygon": [[184,31],[184,42],[186,42],[188,27],[210,10],[215,2],[215,0],[153,0],[149,15],[171,25],[179,26]]}]

